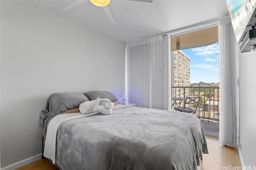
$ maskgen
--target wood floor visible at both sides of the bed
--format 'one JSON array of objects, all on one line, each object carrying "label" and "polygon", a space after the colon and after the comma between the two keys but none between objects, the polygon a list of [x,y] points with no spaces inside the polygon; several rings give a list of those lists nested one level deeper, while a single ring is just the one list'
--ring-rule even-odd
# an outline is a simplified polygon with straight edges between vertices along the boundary
[{"label": "wood floor visible at both sides of the bed", "polygon": [[[234,148],[221,146],[219,140],[206,137],[209,154],[203,154],[204,158],[200,161],[198,170],[223,170],[223,166],[241,166],[238,152]],[[18,170],[58,170],[48,159],[41,159]]]}]

